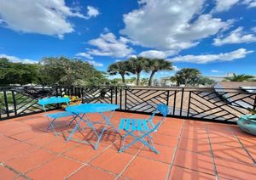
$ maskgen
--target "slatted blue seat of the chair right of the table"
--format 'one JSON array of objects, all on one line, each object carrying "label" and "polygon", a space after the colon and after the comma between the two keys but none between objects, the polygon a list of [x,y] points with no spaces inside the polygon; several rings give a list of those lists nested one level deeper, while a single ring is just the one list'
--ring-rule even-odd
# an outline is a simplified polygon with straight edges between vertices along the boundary
[{"label": "slatted blue seat of the chair right of the table", "polygon": [[152,121],[148,121],[145,119],[121,119],[119,123],[119,129],[125,131],[140,131],[140,132],[148,132],[152,128],[154,128],[154,124]]}]

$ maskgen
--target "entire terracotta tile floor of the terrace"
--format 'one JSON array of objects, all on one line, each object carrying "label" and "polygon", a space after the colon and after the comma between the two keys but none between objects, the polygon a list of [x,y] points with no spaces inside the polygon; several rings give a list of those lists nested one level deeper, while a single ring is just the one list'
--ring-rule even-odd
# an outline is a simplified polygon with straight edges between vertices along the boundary
[{"label": "entire terracotta tile floor of the terrace", "polygon": [[[120,117],[148,115],[115,112],[114,126]],[[74,126],[68,122],[55,122],[55,137],[45,131],[43,114],[0,121],[0,179],[256,179],[256,138],[235,125],[166,118],[154,132],[156,155],[142,143],[119,153],[121,138],[113,129],[97,150],[90,129],[74,134],[89,143],[67,142]]]}]

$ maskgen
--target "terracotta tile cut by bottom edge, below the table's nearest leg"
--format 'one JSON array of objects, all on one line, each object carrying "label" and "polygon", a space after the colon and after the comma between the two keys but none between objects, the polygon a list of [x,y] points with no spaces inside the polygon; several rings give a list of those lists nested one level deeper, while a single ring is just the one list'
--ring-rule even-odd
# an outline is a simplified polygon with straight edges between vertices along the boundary
[{"label": "terracotta tile cut by bottom edge, below the table's nearest leg", "polygon": [[95,180],[95,179],[106,179],[111,180],[114,179],[115,176],[111,173],[104,172],[96,167],[93,166],[84,166],[78,172],[75,172],[71,177],[68,179],[88,179],[88,180]]}]

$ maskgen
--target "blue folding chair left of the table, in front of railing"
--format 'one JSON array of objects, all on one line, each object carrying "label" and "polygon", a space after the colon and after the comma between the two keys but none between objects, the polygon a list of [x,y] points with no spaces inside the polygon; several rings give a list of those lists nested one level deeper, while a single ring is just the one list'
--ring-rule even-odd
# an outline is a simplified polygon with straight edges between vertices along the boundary
[{"label": "blue folding chair left of the table, in front of railing", "polygon": [[55,120],[60,119],[62,117],[73,116],[72,121],[70,121],[70,123],[69,123],[69,125],[71,125],[73,123],[73,121],[76,121],[77,116],[73,115],[73,113],[67,112],[67,111],[61,111],[61,112],[48,114],[45,106],[48,104],[62,104],[62,103],[65,103],[68,106],[69,101],[70,101],[69,98],[61,98],[61,97],[42,98],[42,99],[38,100],[38,104],[43,106],[45,116],[47,117],[47,119],[49,121],[49,126],[47,127],[47,131],[49,131],[49,128],[51,127],[53,129],[53,131],[55,132],[55,136],[57,135],[57,132],[55,131],[55,127],[54,127]]}]

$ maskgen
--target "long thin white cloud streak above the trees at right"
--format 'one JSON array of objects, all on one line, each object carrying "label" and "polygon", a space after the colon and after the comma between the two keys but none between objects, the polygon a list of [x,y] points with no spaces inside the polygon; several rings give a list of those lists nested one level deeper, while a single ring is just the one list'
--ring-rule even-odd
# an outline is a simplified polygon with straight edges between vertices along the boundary
[{"label": "long thin white cloud streak above the trees at right", "polygon": [[253,51],[247,51],[247,49],[245,48],[239,48],[236,51],[232,51],[230,53],[185,55],[185,56],[177,56],[169,60],[171,60],[172,62],[207,64],[215,61],[232,61],[234,59],[242,59],[242,58],[245,58],[248,53],[253,53]]}]

